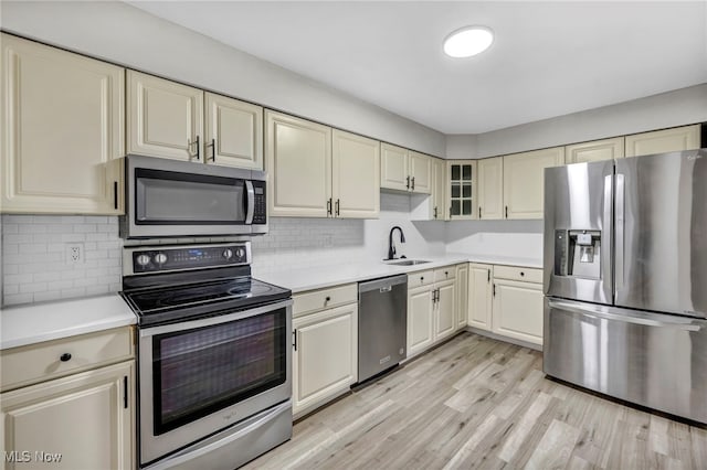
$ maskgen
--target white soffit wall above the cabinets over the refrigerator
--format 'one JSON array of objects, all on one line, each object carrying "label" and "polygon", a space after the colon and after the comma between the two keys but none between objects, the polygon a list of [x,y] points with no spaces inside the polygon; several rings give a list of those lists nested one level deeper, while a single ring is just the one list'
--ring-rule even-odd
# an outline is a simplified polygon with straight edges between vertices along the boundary
[{"label": "white soffit wall above the cabinets over the refrigerator", "polygon": [[704,121],[707,84],[493,132],[447,136],[446,151],[449,158],[493,157]]}]

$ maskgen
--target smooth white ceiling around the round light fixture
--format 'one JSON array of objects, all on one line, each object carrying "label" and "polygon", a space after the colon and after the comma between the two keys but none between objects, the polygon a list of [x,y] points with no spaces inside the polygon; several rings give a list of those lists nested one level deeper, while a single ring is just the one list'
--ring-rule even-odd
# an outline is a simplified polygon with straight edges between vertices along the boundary
[{"label": "smooth white ceiling around the round light fixture", "polygon": [[[444,133],[479,133],[707,83],[707,2],[130,4]],[[496,40],[442,53],[461,26]]]}]

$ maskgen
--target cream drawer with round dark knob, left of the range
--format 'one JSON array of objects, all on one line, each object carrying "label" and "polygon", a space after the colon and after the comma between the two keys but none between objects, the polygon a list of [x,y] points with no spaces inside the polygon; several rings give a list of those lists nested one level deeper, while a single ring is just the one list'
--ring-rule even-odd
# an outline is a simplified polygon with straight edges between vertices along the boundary
[{"label": "cream drawer with round dark knob, left of the range", "polygon": [[0,352],[0,391],[88,371],[133,356],[129,327],[11,348]]}]

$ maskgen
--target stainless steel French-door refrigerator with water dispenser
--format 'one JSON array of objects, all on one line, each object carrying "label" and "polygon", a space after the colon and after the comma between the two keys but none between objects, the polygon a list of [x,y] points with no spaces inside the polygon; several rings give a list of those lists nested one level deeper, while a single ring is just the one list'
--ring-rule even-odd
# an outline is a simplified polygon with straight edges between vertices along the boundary
[{"label": "stainless steel French-door refrigerator with water dispenser", "polygon": [[707,423],[707,149],[545,171],[546,374]]}]

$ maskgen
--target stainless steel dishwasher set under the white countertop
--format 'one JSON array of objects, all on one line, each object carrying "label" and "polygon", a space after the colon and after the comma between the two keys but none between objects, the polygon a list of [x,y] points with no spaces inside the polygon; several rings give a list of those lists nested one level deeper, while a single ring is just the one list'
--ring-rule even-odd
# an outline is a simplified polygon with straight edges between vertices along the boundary
[{"label": "stainless steel dishwasher set under the white countertop", "polygon": [[358,382],[407,357],[408,276],[358,284]]}]

